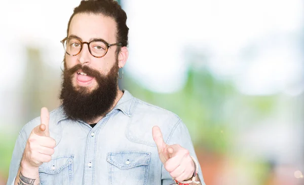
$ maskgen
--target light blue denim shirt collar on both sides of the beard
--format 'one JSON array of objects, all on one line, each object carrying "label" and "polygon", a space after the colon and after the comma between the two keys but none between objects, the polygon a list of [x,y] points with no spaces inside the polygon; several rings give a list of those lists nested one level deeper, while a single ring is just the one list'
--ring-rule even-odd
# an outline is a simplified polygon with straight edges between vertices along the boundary
[{"label": "light blue denim shirt collar on both sides of the beard", "polygon": [[[121,110],[126,116],[131,117],[132,116],[132,110],[134,107],[135,98],[132,96],[132,94],[123,89],[123,96],[121,99],[117,102],[116,106],[113,109],[119,109]],[[64,112],[63,106],[60,105],[57,109],[57,116],[56,116],[56,123],[59,123],[60,121],[68,118]]]}]

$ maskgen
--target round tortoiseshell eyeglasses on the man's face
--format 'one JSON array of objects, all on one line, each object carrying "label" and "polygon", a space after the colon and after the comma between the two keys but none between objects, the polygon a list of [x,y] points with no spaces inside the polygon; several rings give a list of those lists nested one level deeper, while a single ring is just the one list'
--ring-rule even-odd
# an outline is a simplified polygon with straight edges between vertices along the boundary
[{"label": "round tortoiseshell eyeglasses on the man's face", "polygon": [[81,42],[79,39],[76,38],[65,38],[60,41],[63,45],[65,53],[70,56],[76,56],[80,54],[83,49],[84,44],[88,45],[89,52],[92,56],[96,58],[103,57],[110,46],[121,46],[122,43],[115,43],[115,44],[108,44],[102,39],[93,40],[91,42]]}]

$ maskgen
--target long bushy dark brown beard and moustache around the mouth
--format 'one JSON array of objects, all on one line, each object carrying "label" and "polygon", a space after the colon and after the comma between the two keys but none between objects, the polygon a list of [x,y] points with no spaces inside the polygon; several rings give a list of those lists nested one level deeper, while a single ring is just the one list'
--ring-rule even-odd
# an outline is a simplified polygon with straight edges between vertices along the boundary
[{"label": "long bushy dark brown beard and moustache around the mouth", "polygon": [[[95,89],[73,86],[72,78],[79,69],[95,78]],[[118,94],[118,71],[118,59],[106,76],[87,65],[78,64],[65,69],[62,73],[60,100],[66,116],[73,120],[92,123],[108,113]]]}]

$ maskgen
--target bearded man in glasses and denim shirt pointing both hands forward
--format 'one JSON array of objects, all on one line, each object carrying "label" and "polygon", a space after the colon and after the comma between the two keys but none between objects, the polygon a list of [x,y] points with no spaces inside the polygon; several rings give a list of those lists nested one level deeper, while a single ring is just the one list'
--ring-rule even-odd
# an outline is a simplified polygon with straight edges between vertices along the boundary
[{"label": "bearded man in glasses and denim shirt pointing both hands forward", "polygon": [[119,90],[126,20],[111,0],[74,9],[61,41],[62,105],[22,128],[8,184],[204,184],[182,121]]}]

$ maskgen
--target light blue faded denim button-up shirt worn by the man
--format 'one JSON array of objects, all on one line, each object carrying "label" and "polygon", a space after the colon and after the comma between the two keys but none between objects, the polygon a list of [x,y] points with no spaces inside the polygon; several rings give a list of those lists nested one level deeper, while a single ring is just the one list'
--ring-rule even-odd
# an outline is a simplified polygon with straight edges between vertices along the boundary
[{"label": "light blue faded denim button-up shirt worn by the man", "polygon": [[[19,133],[7,184],[14,184],[31,130],[40,117]],[[124,90],[122,98],[97,125],[67,118],[62,106],[50,113],[50,137],[56,140],[52,160],[39,167],[42,185],[174,183],[159,159],[152,127],[159,126],[167,144],[180,144],[196,160],[186,126],[173,113],[133,97]],[[203,182],[201,168],[198,175]]]}]

